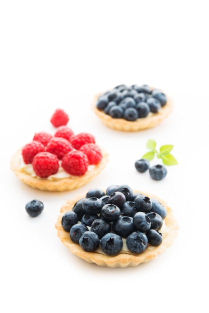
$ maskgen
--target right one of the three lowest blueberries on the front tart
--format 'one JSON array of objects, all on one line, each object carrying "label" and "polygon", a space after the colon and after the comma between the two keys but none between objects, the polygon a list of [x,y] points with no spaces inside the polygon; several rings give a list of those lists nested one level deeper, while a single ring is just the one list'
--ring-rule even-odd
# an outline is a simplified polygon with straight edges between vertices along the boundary
[{"label": "right one of the three lowest blueberries on the front tart", "polygon": [[148,244],[147,236],[141,231],[133,231],[126,239],[128,250],[132,253],[141,253]]}]

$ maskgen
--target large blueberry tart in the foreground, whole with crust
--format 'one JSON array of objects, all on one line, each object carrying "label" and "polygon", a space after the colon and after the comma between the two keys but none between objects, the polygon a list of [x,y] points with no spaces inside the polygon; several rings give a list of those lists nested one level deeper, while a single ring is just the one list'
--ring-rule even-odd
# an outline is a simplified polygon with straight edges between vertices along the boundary
[{"label": "large blueberry tart in the foreground, whole with crust", "polygon": [[164,200],[123,184],[67,200],[55,228],[61,242],[83,260],[127,267],[163,253],[177,236],[178,222]]}]

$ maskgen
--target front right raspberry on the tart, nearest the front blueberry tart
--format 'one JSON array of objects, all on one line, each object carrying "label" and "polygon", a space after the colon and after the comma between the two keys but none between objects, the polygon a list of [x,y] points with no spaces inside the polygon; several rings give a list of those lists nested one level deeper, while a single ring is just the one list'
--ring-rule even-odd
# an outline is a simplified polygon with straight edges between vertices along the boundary
[{"label": "front right raspberry on the tart, nearest the front blueberry tart", "polygon": [[61,161],[61,166],[70,175],[81,176],[88,169],[88,158],[81,151],[70,151]]}]

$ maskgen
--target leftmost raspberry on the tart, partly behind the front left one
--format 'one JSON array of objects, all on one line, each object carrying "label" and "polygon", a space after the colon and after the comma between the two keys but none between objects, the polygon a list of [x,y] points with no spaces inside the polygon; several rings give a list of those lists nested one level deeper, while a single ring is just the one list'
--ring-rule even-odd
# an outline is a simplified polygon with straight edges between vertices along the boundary
[{"label": "leftmost raspberry on the tart, partly behind the front left one", "polygon": [[25,164],[32,163],[33,157],[45,150],[44,145],[39,141],[31,141],[25,144],[22,148],[22,157]]}]

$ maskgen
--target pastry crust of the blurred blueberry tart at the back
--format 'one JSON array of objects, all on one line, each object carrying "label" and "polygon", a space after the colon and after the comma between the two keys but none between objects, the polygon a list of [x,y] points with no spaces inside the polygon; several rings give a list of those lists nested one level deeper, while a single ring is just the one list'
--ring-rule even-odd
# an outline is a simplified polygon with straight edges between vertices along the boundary
[{"label": "pastry crust of the blurred blueberry tart at the back", "polygon": [[96,107],[98,96],[101,94],[102,92],[94,96],[91,108],[106,126],[116,130],[138,131],[152,128],[165,119],[173,110],[173,101],[171,98],[167,97],[167,103],[157,113],[148,114],[148,116],[138,118],[135,121],[128,121],[123,118],[112,118],[110,115],[105,114]]}]

